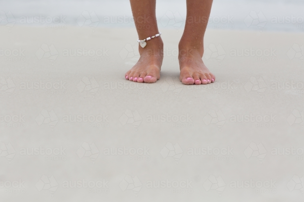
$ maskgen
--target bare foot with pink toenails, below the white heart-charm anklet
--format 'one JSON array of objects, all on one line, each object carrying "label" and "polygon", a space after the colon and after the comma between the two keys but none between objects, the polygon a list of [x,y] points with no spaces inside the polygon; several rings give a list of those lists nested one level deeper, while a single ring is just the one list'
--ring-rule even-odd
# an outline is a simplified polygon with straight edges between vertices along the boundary
[{"label": "bare foot with pink toenails, below the white heart-charm anklet", "polygon": [[155,83],[160,78],[163,62],[163,42],[161,37],[147,42],[145,48],[139,46],[138,62],[125,74],[125,78],[134,82]]}]

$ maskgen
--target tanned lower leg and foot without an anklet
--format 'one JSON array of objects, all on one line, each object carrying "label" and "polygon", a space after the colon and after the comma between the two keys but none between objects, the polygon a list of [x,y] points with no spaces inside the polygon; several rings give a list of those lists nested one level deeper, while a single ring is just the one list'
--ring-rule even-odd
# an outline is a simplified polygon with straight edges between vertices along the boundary
[{"label": "tanned lower leg and foot without an anklet", "polygon": [[178,45],[180,80],[183,84],[208,84],[215,81],[215,76],[202,61],[211,6],[212,0],[187,0],[186,25]]}]

